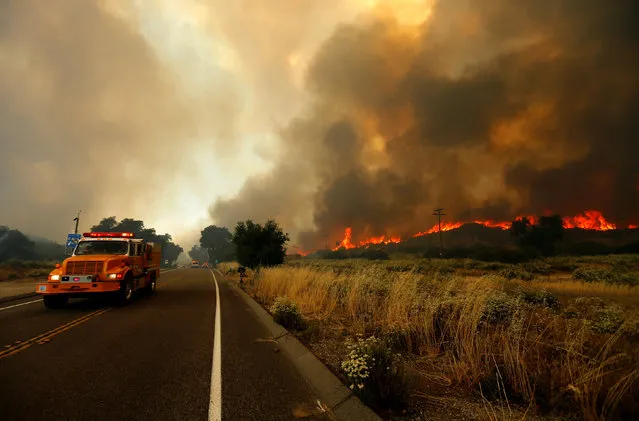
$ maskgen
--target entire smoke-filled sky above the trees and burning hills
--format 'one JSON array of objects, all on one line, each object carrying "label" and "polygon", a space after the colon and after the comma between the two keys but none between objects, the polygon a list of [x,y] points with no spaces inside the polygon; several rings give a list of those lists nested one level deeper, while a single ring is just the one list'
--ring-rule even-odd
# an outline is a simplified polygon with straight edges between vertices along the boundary
[{"label": "entire smoke-filled sky above the trees and burning hills", "polygon": [[0,225],[639,222],[632,0],[0,0]]}]

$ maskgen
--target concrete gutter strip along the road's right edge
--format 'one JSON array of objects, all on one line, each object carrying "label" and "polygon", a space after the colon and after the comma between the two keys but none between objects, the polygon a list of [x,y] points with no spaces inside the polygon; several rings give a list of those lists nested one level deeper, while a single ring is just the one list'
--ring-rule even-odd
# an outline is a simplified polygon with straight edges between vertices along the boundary
[{"label": "concrete gutter strip along the road's right edge", "polygon": [[[218,271],[218,273],[220,273]],[[222,275],[220,273],[220,275]],[[223,278],[225,278],[222,275]],[[234,291],[255,312],[260,322],[273,335],[284,354],[293,362],[302,377],[315,390],[329,414],[339,421],[381,421],[372,409],[364,405],[311,351],[281,325],[235,282],[229,281]]]}]

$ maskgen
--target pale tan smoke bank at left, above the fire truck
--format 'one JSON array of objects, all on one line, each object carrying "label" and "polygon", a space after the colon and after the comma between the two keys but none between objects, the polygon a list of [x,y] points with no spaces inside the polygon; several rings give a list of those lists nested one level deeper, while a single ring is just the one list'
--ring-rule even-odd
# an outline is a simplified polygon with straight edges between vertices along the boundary
[{"label": "pale tan smoke bank at left, above the fire truck", "polygon": [[151,225],[166,187],[197,178],[183,142],[233,138],[232,98],[187,98],[126,6],[0,1],[0,223],[58,241],[78,209],[80,229]]}]

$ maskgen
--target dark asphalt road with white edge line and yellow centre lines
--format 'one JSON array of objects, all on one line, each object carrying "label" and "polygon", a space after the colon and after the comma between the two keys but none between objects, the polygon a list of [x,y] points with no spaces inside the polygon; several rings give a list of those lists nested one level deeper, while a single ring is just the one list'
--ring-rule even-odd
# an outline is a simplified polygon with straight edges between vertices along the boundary
[{"label": "dark asphalt road with white edge line and yellow centre lines", "polygon": [[208,269],[164,273],[156,295],[127,307],[0,304],[0,419],[197,421],[216,419],[216,408],[224,420],[328,419],[254,312],[216,278],[217,337]]}]

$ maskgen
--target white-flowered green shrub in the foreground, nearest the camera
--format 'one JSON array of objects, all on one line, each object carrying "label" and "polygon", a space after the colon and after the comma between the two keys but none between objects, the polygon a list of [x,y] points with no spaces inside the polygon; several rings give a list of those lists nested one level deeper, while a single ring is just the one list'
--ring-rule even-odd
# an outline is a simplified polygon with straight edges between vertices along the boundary
[{"label": "white-flowered green shrub in the foreground, nearest the camera", "polygon": [[356,341],[347,339],[350,351],[342,361],[349,387],[365,403],[382,408],[406,405],[408,381],[397,354],[375,336]]}]

